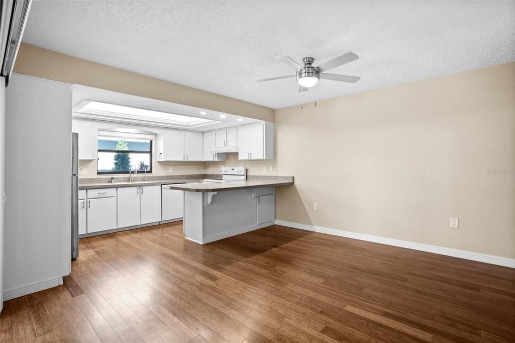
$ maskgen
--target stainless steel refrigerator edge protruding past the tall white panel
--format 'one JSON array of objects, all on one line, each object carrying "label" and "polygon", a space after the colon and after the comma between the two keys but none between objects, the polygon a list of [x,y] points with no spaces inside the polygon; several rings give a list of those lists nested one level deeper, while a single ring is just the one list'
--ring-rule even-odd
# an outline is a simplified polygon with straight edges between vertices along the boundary
[{"label": "stainless steel refrigerator edge protruding past the tall white panel", "polygon": [[79,255],[79,134],[72,133],[72,260]]}]

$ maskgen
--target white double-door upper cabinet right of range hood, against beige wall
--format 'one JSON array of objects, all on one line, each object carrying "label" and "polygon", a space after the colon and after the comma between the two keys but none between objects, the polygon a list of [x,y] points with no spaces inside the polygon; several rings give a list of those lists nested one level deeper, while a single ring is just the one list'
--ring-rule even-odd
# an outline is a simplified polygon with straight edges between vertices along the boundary
[{"label": "white double-door upper cabinet right of range hood, against beige wall", "polygon": [[271,160],[274,158],[273,124],[254,123],[237,128],[239,160]]}]

